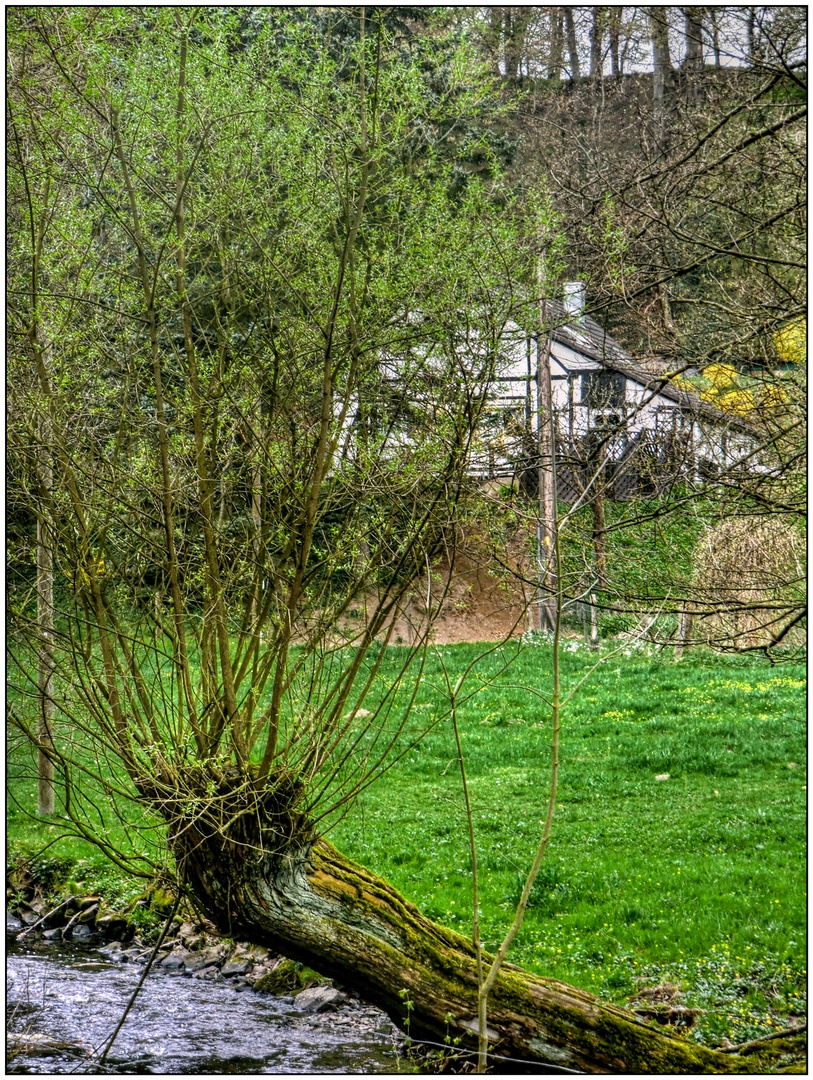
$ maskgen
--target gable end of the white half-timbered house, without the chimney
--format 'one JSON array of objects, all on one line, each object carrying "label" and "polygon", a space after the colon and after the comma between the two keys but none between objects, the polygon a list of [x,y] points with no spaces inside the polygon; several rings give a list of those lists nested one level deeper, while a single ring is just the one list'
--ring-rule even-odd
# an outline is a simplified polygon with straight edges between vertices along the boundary
[{"label": "gable end of the white half-timbered house, without the chimney", "polygon": [[[652,494],[678,476],[710,477],[740,465],[758,468],[757,432],[695,394],[653,375],[572,303],[547,301],[548,352],[559,497],[572,502],[595,471],[597,455],[608,495]],[[520,327],[506,329],[504,361],[484,424],[476,472],[510,477],[534,468],[540,415],[540,345]],[[543,411],[543,410],[542,410]]]}]

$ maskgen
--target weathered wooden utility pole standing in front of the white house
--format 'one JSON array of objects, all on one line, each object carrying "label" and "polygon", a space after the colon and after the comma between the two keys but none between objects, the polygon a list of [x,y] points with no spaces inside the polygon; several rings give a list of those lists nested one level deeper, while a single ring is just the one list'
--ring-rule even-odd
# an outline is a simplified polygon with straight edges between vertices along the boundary
[{"label": "weathered wooden utility pole standing in front of the white house", "polygon": [[556,539],[556,433],[551,384],[551,326],[546,298],[544,256],[540,255],[539,329],[537,333],[537,608],[539,629],[553,630],[556,622],[554,542]]}]

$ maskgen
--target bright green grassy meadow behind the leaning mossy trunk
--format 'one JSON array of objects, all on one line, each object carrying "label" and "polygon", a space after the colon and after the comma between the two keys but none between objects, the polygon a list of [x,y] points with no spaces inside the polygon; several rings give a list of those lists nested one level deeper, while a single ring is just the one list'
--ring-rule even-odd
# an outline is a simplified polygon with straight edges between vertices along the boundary
[{"label": "bright green grassy meadow behind the leaning mossy trunk", "polygon": [[[406,705],[404,654],[388,650],[371,699],[390,693]],[[683,1004],[704,1010],[694,1028],[703,1040],[778,1029],[804,1010],[804,670],[700,649],[680,663],[632,646],[600,658],[564,710],[551,845],[510,959],[619,1002],[675,984]],[[434,650],[409,723],[416,732],[437,723],[329,832],[430,917],[471,931],[447,686],[474,662],[458,719],[488,948],[511,921],[544,818],[551,724],[539,693],[550,692],[551,659],[547,644]],[[564,643],[565,694],[595,662],[580,642]],[[86,841],[58,841],[58,821],[31,821],[30,761],[22,746],[12,752],[12,856],[51,845],[39,858],[55,873],[119,903],[137,895],[144,881],[124,878]],[[114,843],[154,848],[138,808],[98,814]]]}]

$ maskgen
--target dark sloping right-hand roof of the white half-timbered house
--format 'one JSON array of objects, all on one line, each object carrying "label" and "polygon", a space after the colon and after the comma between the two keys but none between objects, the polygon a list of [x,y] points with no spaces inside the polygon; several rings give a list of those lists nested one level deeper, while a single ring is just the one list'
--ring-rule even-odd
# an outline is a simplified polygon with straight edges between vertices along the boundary
[{"label": "dark sloping right-hand roof of the white half-timbered house", "polygon": [[614,338],[605,333],[602,327],[590,315],[582,315],[578,321],[559,300],[547,300],[547,319],[551,322],[551,338],[567,346],[573,352],[581,353],[588,360],[602,365],[612,372],[620,372],[626,378],[642,386],[650,393],[659,394],[674,401],[681,408],[741,431],[756,434],[756,429],[747,420],[723,413],[709,402],[703,401],[688,390],[680,390],[673,378],[667,375],[654,375],[634,363]]}]

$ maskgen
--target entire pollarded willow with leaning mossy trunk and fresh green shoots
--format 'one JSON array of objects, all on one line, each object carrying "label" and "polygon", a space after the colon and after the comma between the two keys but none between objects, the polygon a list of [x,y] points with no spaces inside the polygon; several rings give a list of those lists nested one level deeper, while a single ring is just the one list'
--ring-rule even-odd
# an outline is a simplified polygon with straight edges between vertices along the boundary
[{"label": "entire pollarded willow with leaning mossy trunk and fresh green shoots", "polygon": [[[25,592],[15,719],[113,858],[92,815],[132,797],[222,930],[475,1039],[472,944],[321,834],[420,734],[421,649],[381,692],[382,646],[472,498],[540,221],[484,179],[465,50],[340,18],[13,13],[10,495],[56,568],[53,742]],[[510,966],[489,1025],[569,1068],[735,1067]]]}]

